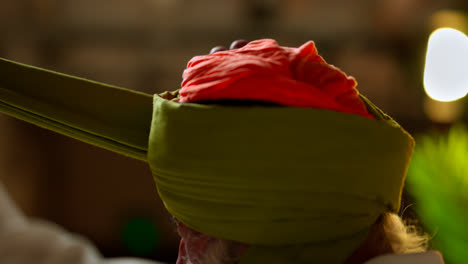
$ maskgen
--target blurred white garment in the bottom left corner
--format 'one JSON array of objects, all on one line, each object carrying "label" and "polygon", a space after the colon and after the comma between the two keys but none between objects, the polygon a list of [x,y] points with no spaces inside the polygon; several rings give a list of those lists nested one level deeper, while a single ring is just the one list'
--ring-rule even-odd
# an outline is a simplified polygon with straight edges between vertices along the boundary
[{"label": "blurred white garment in the bottom left corner", "polygon": [[0,183],[0,264],[162,264],[135,258],[104,259],[92,243],[60,226],[30,220]]}]

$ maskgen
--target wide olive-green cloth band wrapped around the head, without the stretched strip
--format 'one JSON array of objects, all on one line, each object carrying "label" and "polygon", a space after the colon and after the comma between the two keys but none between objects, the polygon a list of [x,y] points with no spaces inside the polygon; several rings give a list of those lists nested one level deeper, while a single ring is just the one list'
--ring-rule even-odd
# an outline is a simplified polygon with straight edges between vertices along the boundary
[{"label": "wide olive-green cloth band wrapped around the head, without the stretched strip", "polygon": [[272,256],[280,245],[346,238],[333,247],[345,258],[381,213],[399,209],[413,144],[391,120],[156,95],[148,161],[166,208],[194,230]]}]

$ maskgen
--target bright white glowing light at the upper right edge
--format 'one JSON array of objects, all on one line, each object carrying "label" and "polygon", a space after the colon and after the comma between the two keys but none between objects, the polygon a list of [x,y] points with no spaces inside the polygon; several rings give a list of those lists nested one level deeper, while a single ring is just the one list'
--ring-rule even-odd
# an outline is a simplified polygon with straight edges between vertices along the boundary
[{"label": "bright white glowing light at the upper right edge", "polygon": [[434,100],[449,102],[468,93],[468,37],[441,28],[429,37],[424,67],[424,89]]}]

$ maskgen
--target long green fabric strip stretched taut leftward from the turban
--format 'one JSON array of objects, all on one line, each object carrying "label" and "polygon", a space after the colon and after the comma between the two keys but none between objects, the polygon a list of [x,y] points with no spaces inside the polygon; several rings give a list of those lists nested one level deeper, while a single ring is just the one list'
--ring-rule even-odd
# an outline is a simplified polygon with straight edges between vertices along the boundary
[{"label": "long green fabric strip stretched taut leftward from the turban", "polygon": [[148,94],[0,58],[0,112],[146,160]]}]

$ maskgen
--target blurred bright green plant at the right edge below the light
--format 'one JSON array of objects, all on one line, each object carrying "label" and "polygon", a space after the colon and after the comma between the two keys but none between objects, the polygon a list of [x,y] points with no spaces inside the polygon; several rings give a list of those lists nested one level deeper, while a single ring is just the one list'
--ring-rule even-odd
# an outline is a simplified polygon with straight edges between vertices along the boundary
[{"label": "blurred bright green plant at the right edge below the light", "polygon": [[468,130],[455,125],[446,134],[416,140],[407,178],[415,209],[447,263],[468,259]]}]

